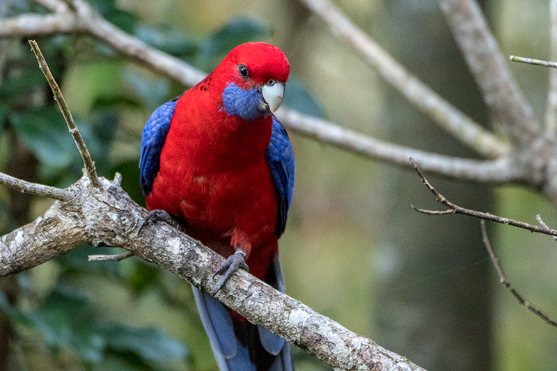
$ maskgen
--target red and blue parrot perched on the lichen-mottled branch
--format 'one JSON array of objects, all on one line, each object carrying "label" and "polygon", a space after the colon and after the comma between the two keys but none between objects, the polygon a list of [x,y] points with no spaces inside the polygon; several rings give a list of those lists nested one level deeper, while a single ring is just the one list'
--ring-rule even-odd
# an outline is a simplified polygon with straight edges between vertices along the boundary
[{"label": "red and blue parrot perched on the lichen-mottled branch", "polygon": [[[203,81],[159,106],[143,129],[140,185],[150,211],[144,223],[175,223],[222,255],[217,291],[237,269],[285,289],[278,237],[295,161],[273,113],[289,74],[278,47],[239,45]],[[294,370],[288,342],[192,288],[220,370]]]}]

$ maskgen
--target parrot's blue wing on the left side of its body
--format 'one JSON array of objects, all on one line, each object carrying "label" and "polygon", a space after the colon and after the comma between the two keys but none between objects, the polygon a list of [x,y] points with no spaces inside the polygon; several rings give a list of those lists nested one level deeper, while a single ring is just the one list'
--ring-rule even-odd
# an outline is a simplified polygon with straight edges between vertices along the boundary
[{"label": "parrot's blue wing on the left side of its body", "polygon": [[159,106],[152,113],[143,128],[141,135],[141,158],[139,159],[140,184],[143,196],[147,196],[152,189],[152,182],[159,172],[161,150],[170,129],[170,122],[174,116],[178,98]]}]

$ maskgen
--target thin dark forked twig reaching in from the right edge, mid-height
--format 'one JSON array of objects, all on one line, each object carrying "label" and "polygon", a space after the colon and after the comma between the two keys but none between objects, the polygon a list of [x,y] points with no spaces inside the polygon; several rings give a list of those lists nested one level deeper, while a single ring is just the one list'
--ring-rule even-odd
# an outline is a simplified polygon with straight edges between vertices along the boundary
[{"label": "thin dark forked twig reaching in from the right edge, mid-height", "polygon": [[513,219],[503,218],[501,216],[496,216],[494,214],[489,214],[489,212],[478,212],[476,210],[466,209],[465,207],[460,207],[458,205],[455,205],[454,203],[451,203],[445,196],[440,194],[437,191],[437,189],[435,189],[431,185],[431,183],[425,178],[425,176],[421,172],[420,168],[418,168],[418,165],[416,164],[416,161],[414,161],[414,159],[412,159],[411,157],[410,157],[410,162],[411,162],[412,166],[414,166],[414,168],[416,169],[416,172],[418,173],[419,177],[421,178],[423,184],[425,184],[425,187],[427,187],[427,189],[429,189],[431,191],[431,193],[434,194],[435,198],[437,198],[437,202],[441,203],[442,205],[445,205],[451,211],[451,212],[448,212],[448,211],[444,210],[442,212],[439,212],[439,210],[418,209],[418,208],[412,206],[412,208],[414,208],[414,210],[416,210],[417,212],[421,212],[423,214],[428,214],[428,215],[464,214],[464,215],[474,216],[475,218],[479,218],[479,219],[494,221],[496,223],[503,223],[503,224],[506,224],[508,226],[515,226],[515,227],[518,227],[518,228],[524,228],[524,229],[530,230],[531,232],[538,232],[538,233],[543,233],[544,235],[557,236],[557,230],[554,230],[554,229],[551,229],[551,228],[546,228],[546,227],[542,227],[542,226],[534,226],[533,224],[524,223],[524,221],[516,221],[516,220],[513,220]]}]

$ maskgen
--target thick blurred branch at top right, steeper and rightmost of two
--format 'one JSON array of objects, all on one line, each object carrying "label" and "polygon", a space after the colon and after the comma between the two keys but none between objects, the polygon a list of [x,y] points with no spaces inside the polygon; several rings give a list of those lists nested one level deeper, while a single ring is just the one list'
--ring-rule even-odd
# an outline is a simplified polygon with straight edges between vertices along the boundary
[{"label": "thick blurred branch at top right, steeper and rightmost of two", "polygon": [[473,0],[439,0],[439,5],[487,106],[512,143],[532,144],[540,136],[540,125],[512,79],[478,3]]}]

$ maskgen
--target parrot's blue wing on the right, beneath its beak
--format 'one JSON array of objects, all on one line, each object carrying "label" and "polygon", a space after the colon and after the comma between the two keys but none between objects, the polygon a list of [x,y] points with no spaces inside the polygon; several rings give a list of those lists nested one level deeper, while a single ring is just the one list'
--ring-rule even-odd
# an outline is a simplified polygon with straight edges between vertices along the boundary
[{"label": "parrot's blue wing on the right, beneath its beak", "polygon": [[276,235],[281,237],[288,218],[288,209],[294,194],[294,152],[283,125],[273,116],[271,143],[265,153],[278,192],[278,219]]}]

